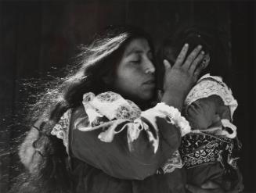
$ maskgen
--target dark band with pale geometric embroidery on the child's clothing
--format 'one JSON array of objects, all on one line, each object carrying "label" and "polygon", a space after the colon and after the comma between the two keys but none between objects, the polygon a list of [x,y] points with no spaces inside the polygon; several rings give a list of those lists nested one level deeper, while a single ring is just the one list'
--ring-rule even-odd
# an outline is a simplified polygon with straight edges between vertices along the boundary
[{"label": "dark band with pale geometric embroidery on the child's clothing", "polygon": [[[190,133],[182,138],[182,145],[179,148],[182,161],[186,168],[220,162],[222,166],[229,163],[236,169],[236,159],[233,158],[233,141],[229,138],[211,134]],[[222,159],[225,153],[227,160]]]}]

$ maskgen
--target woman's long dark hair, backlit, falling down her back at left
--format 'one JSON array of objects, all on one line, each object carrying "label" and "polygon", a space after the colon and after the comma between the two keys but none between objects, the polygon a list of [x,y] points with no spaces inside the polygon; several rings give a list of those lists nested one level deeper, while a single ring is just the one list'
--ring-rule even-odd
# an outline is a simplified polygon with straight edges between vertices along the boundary
[{"label": "woman's long dark hair, backlit, falling down her back at left", "polygon": [[[20,160],[26,168],[11,192],[72,192],[63,141],[50,133],[68,109],[81,105],[82,95],[111,89],[103,81],[114,75],[124,48],[132,39],[150,36],[135,27],[107,27],[88,46],[81,48],[79,62],[59,84],[49,88],[33,105],[29,116],[31,130],[20,145]],[[110,76],[114,77],[114,76]]]}]

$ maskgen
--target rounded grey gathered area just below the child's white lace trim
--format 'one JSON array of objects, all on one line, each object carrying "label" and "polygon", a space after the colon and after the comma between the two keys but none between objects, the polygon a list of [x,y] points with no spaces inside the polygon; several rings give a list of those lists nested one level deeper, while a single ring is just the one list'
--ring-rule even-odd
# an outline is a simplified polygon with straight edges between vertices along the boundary
[{"label": "rounded grey gathered area just below the child's white lace trim", "polygon": [[189,105],[187,119],[193,129],[204,130],[219,119],[214,102],[197,100]]}]

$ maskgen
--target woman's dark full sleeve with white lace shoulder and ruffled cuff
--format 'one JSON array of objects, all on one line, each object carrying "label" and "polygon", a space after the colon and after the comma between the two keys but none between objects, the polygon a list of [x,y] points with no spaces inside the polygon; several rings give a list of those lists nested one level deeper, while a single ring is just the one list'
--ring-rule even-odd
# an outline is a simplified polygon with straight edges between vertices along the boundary
[{"label": "woman's dark full sleeve with white lace shoulder and ruffled cuff", "polygon": [[190,130],[178,109],[164,103],[141,111],[106,92],[86,94],[83,105],[70,118],[70,154],[113,177],[141,180],[157,173]]}]

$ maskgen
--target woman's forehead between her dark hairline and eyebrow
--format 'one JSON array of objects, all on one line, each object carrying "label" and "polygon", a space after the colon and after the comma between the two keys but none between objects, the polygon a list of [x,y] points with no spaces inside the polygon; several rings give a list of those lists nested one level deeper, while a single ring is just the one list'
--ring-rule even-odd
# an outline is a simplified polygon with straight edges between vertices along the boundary
[{"label": "woman's forehead between her dark hairline and eyebrow", "polygon": [[125,48],[124,55],[132,55],[134,53],[151,52],[149,42],[144,38],[136,38],[132,40]]}]

